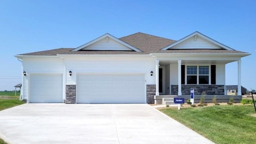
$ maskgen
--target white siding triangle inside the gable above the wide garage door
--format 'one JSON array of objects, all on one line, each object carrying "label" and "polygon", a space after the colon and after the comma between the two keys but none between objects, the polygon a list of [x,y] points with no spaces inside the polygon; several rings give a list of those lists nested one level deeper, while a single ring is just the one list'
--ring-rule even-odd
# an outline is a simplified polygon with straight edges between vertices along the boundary
[{"label": "white siding triangle inside the gable above the wide garage door", "polygon": [[99,40],[81,50],[124,50],[124,51],[133,51],[131,48],[124,46],[108,37]]}]

